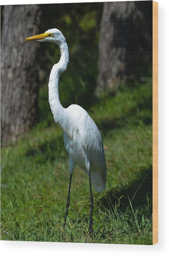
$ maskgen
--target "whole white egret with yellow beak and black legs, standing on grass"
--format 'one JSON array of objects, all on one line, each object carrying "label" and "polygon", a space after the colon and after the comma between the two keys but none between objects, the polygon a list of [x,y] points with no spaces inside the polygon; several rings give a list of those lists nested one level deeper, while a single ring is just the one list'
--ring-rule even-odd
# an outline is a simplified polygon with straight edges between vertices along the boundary
[{"label": "whole white egret with yellow beak and black legs, standing on grass", "polygon": [[101,192],[106,189],[106,160],[100,131],[89,114],[78,105],[63,108],[59,99],[59,78],[66,71],[69,63],[69,51],[66,39],[60,30],[49,29],[45,33],[31,36],[24,41],[37,40],[39,42],[53,42],[60,47],[60,61],[52,67],[49,77],[49,104],[54,121],[63,129],[64,146],[69,154],[70,182],[66,213],[70,205],[70,186],[75,164],[80,166],[89,175],[90,185],[90,225],[89,233],[92,234],[93,195],[91,180],[94,190]]}]

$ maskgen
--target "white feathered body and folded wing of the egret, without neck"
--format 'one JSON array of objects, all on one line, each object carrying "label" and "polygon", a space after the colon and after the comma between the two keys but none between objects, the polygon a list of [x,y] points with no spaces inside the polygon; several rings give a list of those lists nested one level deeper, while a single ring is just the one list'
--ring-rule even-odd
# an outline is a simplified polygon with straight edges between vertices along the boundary
[{"label": "white feathered body and folded wing of the egret, without neck", "polygon": [[[68,122],[62,126],[64,145],[71,162],[87,174],[91,171],[94,189],[101,192],[106,189],[106,161],[100,131],[82,107],[71,105],[64,111],[68,116]],[[69,170],[73,172],[72,168]]]}]

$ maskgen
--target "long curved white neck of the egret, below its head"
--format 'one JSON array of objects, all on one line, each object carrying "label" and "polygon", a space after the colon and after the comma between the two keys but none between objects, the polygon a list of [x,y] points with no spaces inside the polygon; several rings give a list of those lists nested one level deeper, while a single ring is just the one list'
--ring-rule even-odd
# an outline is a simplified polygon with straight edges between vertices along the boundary
[{"label": "long curved white neck of the egret, below its head", "polygon": [[59,78],[61,74],[67,69],[69,63],[69,51],[68,45],[65,42],[59,44],[61,57],[60,61],[52,67],[49,77],[49,104],[55,122],[59,123],[60,127],[63,128],[64,121],[64,108],[62,107],[59,99]]}]

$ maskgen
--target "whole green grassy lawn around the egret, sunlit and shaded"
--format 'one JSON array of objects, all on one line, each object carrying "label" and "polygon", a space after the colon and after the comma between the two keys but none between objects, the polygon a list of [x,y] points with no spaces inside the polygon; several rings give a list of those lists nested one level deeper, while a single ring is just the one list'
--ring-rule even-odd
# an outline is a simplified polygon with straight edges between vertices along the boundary
[{"label": "whole green grassy lawn around the egret, sunlit and shaded", "polygon": [[[90,109],[102,132],[107,163],[107,190],[101,195],[93,191],[95,236],[88,234],[89,180],[78,167],[62,228],[69,159],[62,130],[53,125],[48,109],[46,119],[40,115],[32,131],[1,150],[2,240],[152,244],[149,88],[120,92]],[[40,95],[43,113],[43,91]]]}]

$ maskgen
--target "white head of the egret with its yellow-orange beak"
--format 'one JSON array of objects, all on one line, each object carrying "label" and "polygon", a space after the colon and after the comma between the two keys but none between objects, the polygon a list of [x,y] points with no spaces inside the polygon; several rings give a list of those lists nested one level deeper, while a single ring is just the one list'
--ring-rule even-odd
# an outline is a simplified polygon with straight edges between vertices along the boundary
[{"label": "white head of the egret with its yellow-orange beak", "polygon": [[48,29],[45,33],[25,38],[24,41],[53,42],[60,45],[66,42],[62,32],[57,28]]}]

